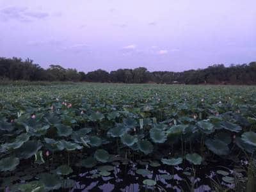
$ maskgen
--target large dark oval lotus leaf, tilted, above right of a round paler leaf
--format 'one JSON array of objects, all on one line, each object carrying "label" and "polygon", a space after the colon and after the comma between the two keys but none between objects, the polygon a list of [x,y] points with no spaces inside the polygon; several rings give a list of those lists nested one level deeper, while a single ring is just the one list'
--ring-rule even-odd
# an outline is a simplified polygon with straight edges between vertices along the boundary
[{"label": "large dark oval lotus leaf, tilted, above right of a round paler leaf", "polygon": [[224,143],[220,140],[212,140],[208,139],[205,141],[205,145],[209,150],[214,152],[214,154],[217,154],[218,156],[223,156],[229,154],[230,150],[228,148],[227,143]]}]

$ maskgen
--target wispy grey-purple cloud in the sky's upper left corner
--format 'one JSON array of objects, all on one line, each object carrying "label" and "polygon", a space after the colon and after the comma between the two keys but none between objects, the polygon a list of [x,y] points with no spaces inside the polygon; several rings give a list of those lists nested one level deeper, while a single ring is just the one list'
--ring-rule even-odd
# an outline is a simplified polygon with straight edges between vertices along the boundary
[{"label": "wispy grey-purple cloud in the sky's upper left corner", "polygon": [[32,11],[27,7],[10,6],[0,10],[0,17],[3,20],[19,20],[22,22],[30,22],[38,19],[45,19],[49,14],[42,11]]}]

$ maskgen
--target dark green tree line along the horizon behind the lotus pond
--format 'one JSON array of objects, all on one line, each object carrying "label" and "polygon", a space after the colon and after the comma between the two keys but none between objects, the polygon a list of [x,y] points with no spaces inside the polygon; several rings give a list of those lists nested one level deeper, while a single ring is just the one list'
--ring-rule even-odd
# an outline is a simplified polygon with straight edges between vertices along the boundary
[{"label": "dark green tree line along the horizon behind the lotus pond", "polygon": [[25,81],[86,81],[101,83],[161,83],[161,84],[256,84],[256,62],[241,65],[211,65],[204,69],[184,72],[154,71],[145,67],[123,68],[106,72],[77,72],[74,68],[50,65],[44,69],[33,60],[0,58],[1,80]]}]

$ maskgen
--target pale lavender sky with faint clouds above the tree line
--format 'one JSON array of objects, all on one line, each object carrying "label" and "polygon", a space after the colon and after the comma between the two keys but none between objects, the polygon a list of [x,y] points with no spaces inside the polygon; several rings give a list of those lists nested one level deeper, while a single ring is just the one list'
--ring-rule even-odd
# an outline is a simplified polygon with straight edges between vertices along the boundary
[{"label": "pale lavender sky with faint clouds above the tree line", "polygon": [[47,68],[205,68],[256,61],[255,0],[0,0],[0,57]]}]

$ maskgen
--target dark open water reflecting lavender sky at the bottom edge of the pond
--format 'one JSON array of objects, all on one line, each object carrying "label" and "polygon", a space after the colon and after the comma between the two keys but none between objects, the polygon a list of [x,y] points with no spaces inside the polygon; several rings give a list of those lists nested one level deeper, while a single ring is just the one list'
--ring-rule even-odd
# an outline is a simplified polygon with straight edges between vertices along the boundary
[{"label": "dark open water reflecting lavender sky at the bottom edge of the pond", "polygon": [[[110,164],[109,164],[110,165]],[[207,168],[200,168],[200,172],[194,173],[191,167],[181,168],[179,166],[151,167],[148,164],[118,164],[113,163],[113,169],[108,176],[100,176],[97,167],[93,170],[83,170],[75,179],[76,186],[71,191],[190,191],[194,186],[196,192],[211,191],[209,177],[216,174]],[[111,167],[110,166],[110,167]],[[148,170],[148,175],[139,175],[138,169]],[[152,179],[156,181],[155,186],[146,186],[143,180]]]}]

